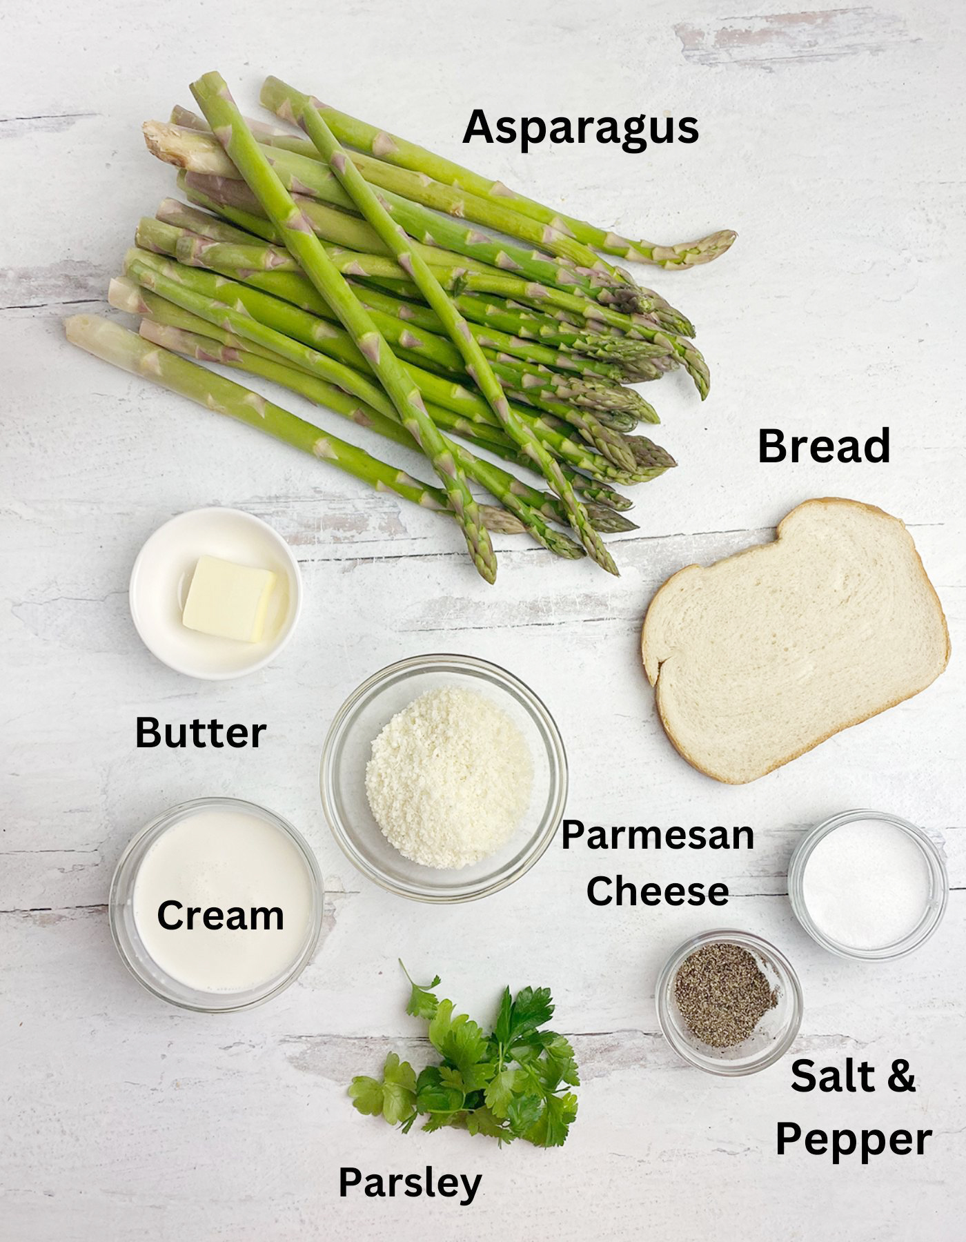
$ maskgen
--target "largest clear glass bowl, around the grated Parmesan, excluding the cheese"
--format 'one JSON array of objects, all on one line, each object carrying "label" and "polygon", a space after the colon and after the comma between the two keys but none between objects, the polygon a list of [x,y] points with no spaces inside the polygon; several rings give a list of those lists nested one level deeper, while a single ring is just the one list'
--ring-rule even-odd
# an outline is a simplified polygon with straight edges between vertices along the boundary
[{"label": "largest clear glass bowl, around the grated Parmesan, excluding the cheese", "polygon": [[[420,694],[446,686],[497,703],[526,739],[534,769],[530,806],[517,832],[489,858],[457,871],[405,858],[382,836],[365,792],[374,739]],[[473,656],[413,656],[374,673],[339,708],[322,749],[319,784],[333,836],[364,876],[417,902],[472,902],[519,879],[548,848],[564,814],[567,761],[554,718],[512,673]]]}]

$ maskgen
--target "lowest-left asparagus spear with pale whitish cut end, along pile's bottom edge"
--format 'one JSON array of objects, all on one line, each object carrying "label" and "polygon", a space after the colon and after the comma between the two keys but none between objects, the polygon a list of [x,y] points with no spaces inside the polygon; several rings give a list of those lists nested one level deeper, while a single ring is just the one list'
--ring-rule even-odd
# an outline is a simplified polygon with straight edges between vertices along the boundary
[{"label": "lowest-left asparagus spear with pale whitish cut end, along pile's bottom edge", "polygon": [[[232,380],[196,366],[194,363],[166,349],[159,349],[137,333],[102,319],[99,315],[76,314],[65,320],[67,339],[88,354],[112,363],[134,375],[143,375],[161,388],[190,397],[216,414],[225,414],[250,427],[258,427],[276,440],[300,448],[319,461],[327,461],[348,474],[361,479],[377,492],[395,492],[405,501],[426,509],[436,509],[454,517],[446,493],[428,483],[422,483],[406,471],[396,469],[372,457],[355,445],[319,431],[303,419],[289,414]],[[482,507],[483,508],[483,507]],[[515,534],[521,529],[512,514],[493,505],[485,505],[483,517],[493,523],[493,529]]]}]

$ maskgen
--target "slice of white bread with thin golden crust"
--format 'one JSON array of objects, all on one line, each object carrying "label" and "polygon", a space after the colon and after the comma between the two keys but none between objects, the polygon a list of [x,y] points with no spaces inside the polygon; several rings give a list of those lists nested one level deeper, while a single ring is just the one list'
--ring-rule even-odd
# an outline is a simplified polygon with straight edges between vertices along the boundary
[{"label": "slice of white bread with thin golden crust", "polygon": [[744,785],[925,689],[950,643],[903,523],[826,498],[774,543],[669,578],[641,650],[672,743]]}]

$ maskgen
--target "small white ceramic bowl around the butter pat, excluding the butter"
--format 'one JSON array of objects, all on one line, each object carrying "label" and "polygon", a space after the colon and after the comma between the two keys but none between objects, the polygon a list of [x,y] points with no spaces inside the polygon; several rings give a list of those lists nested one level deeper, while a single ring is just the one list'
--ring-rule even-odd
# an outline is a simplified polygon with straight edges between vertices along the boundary
[{"label": "small white ceramic bowl around the butter pat, excluding the butter", "polygon": [[[216,638],[181,622],[202,555],[277,575],[260,642]],[[159,527],[138,553],[129,600],[134,627],[161,663],[189,677],[226,681],[263,668],[292,637],[302,611],[302,574],[292,549],[261,518],[241,509],[190,509]]]}]

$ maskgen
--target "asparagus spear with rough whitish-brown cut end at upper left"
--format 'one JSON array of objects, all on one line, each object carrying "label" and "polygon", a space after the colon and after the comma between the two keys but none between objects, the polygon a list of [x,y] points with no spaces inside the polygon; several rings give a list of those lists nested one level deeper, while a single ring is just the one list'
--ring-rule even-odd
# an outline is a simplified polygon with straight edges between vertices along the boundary
[{"label": "asparagus spear with rough whitish-brown cut end at upper left", "polygon": [[[238,123],[243,124],[241,113]],[[158,159],[174,164],[186,171],[204,176],[200,186],[211,191],[220,190],[231,199],[236,191],[225,185],[226,181],[240,180],[237,163],[226,158],[219,148],[215,137],[179,129],[176,125],[158,120],[147,120],[143,125],[148,149]],[[246,127],[247,130],[247,127]],[[251,130],[247,130],[251,137]],[[294,155],[291,152],[273,147],[262,147],[252,137],[264,166],[271,166],[281,185],[299,196],[310,196],[328,204],[330,207],[351,210],[351,200],[341,190],[338,180],[317,160]],[[241,178],[241,180],[245,180]],[[220,183],[220,184],[217,184]],[[555,261],[535,251],[500,242],[477,227],[461,225],[453,217],[437,215],[428,207],[384,190],[386,210],[392,219],[416,241],[437,245],[446,250],[482,260],[493,267],[519,271],[526,279],[566,288],[579,288],[587,298],[601,304],[615,304],[623,309],[643,307],[647,301],[638,296],[636,286],[612,284],[605,282],[603,273],[577,268],[570,263]],[[250,210],[243,201],[235,202]]]}]

